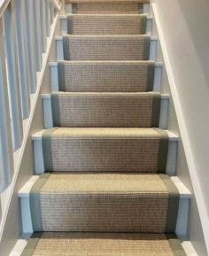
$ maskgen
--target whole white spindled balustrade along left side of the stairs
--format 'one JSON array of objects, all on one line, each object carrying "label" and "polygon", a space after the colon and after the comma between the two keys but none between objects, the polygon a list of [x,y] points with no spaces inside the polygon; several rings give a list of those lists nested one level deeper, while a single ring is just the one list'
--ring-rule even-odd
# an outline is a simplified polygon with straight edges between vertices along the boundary
[{"label": "whole white spindled balustrade along left side of the stairs", "polygon": [[12,183],[60,6],[56,0],[0,0],[0,195]]}]

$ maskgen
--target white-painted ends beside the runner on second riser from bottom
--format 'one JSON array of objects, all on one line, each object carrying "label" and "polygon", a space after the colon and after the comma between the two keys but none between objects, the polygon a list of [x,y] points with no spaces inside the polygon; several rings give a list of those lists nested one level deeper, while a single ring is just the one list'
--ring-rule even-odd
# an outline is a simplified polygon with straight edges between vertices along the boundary
[{"label": "white-painted ends beside the runner on second riser from bottom", "polygon": [[[35,174],[44,173],[44,164],[43,164],[43,144],[42,144],[42,135],[45,130],[42,130],[32,136],[34,144],[34,154],[35,154]],[[174,176],[176,173],[176,160],[177,160],[177,148],[178,148],[178,136],[174,135],[170,131],[167,131],[169,136],[168,143],[168,154],[167,154],[167,164],[166,164],[166,174]]]}]

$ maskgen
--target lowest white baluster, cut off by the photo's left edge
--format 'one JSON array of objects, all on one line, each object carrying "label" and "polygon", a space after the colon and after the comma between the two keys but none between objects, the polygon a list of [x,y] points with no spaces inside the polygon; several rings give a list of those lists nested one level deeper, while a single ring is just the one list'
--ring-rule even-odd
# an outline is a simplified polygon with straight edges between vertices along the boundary
[{"label": "lowest white baluster, cut off by the photo's left edge", "polygon": [[[11,116],[4,56],[4,25],[0,18],[0,191],[12,181],[13,155]],[[1,206],[0,206],[1,208]],[[1,214],[1,213],[0,213]]]}]

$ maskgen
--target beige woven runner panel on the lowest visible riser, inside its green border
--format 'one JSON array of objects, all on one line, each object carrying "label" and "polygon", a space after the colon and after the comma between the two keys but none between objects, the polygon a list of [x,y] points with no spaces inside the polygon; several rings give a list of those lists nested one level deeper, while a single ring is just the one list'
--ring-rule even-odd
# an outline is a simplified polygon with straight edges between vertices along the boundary
[{"label": "beige woven runner panel on the lowest visible riser, inside its green border", "polygon": [[44,205],[43,231],[165,233],[166,230],[167,198],[42,195],[40,200]]}]

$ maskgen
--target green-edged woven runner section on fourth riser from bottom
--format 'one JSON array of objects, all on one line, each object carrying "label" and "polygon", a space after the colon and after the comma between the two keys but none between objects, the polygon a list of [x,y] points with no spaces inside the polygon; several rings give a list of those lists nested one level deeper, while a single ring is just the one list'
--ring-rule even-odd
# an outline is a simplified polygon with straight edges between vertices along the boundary
[{"label": "green-edged woven runner section on fourth riser from bottom", "polygon": [[59,61],[62,91],[151,91],[155,63],[151,61]]}]

